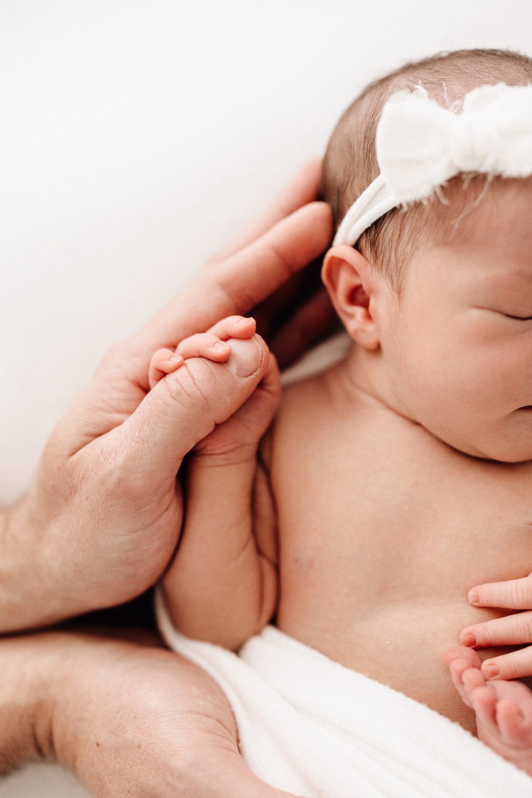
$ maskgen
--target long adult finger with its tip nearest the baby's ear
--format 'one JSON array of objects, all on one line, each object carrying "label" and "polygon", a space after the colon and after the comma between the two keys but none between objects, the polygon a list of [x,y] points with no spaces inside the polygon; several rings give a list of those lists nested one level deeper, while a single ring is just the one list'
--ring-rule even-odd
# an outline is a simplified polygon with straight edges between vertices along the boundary
[{"label": "long adult finger with its tip nearest the baby's ear", "polygon": [[310,203],[278,222],[217,267],[200,274],[136,336],[128,349],[145,357],[175,348],[188,335],[208,330],[224,316],[245,315],[295,272],[321,255],[332,235],[325,203]]}]

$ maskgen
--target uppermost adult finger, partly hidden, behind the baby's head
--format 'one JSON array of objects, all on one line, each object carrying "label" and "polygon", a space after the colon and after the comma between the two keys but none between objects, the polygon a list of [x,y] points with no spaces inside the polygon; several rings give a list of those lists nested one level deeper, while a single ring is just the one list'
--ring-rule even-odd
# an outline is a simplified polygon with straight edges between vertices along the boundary
[{"label": "uppermost adult finger, partly hidden, behind the baby's head", "polygon": [[235,252],[247,247],[259,236],[274,227],[281,219],[285,219],[298,207],[302,207],[316,199],[321,180],[321,159],[313,158],[308,160],[298,169],[290,183],[275,197],[273,203],[266,208],[237,236],[234,237],[225,247],[217,252],[213,258],[207,261],[207,268],[214,266],[221,260],[234,255]]}]

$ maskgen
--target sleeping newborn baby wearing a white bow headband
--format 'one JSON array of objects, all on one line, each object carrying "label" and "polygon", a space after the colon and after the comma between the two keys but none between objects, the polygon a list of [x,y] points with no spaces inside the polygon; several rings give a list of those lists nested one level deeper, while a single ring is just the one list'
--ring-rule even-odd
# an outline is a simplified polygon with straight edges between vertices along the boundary
[{"label": "sleeping newborn baby wearing a white bow headband", "polygon": [[[322,275],[353,346],[279,407],[272,358],[196,447],[163,584],[189,637],[236,650],[275,618],[472,733],[475,709],[484,726],[493,714],[493,702],[473,709],[479,661],[447,657],[464,703],[442,653],[465,626],[507,614],[468,602],[471,585],[532,571],[530,81],[526,57],[451,53],[347,110],[325,156],[323,195],[345,221]],[[252,319],[230,318],[158,352],[152,384],[253,334]],[[532,696],[511,687],[514,737],[496,724],[497,742],[484,737],[532,773],[517,706]]]}]

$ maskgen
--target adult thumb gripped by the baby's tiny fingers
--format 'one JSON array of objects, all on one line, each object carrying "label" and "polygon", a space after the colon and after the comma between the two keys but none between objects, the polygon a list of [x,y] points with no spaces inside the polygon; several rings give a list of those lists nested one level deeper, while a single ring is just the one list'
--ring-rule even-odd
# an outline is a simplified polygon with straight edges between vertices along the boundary
[{"label": "adult thumb gripped by the baby's tiny fingers", "polygon": [[[132,416],[109,433],[120,440],[128,466],[148,481],[175,477],[183,456],[226,421],[253,393],[270,352],[259,335],[231,338],[225,363],[190,358],[167,374]],[[116,441],[113,441],[116,452]]]}]

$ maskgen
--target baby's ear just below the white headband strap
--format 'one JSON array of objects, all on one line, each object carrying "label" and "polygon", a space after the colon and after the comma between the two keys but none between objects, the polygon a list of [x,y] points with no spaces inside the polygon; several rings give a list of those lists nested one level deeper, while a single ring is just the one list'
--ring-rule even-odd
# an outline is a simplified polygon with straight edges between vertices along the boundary
[{"label": "baby's ear just below the white headband strap", "polygon": [[321,279],[353,341],[366,350],[376,350],[380,345],[375,319],[376,279],[368,259],[347,244],[331,247],[323,261]]}]

